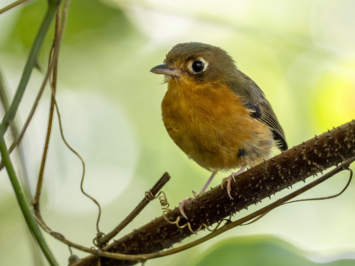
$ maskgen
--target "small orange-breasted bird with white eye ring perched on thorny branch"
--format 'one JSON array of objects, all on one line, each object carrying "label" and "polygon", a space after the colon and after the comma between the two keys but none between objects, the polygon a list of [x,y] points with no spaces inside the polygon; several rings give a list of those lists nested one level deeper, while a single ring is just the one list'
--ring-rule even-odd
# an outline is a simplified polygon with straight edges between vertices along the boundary
[{"label": "small orange-breasted bird with white eye ring perched on thorny branch", "polygon": [[[258,85],[236,66],[233,58],[217,46],[179,43],[166,54],[163,64],[150,72],[163,74],[168,89],[161,104],[162,120],[174,143],[202,168],[212,172],[199,194],[205,192],[219,171],[231,199],[231,181],[285,151],[285,134],[271,104]],[[193,196],[197,193],[192,190]],[[184,205],[179,203],[187,220]]]}]

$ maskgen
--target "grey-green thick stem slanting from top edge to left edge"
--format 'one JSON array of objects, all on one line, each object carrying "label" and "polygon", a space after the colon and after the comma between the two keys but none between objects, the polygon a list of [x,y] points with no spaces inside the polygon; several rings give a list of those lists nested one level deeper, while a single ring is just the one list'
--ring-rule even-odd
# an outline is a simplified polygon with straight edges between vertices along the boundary
[{"label": "grey-green thick stem slanting from top edge to left edge", "polygon": [[20,102],[22,100],[22,96],[23,96],[24,91],[27,87],[27,83],[28,83],[29,78],[31,76],[33,67],[37,63],[37,56],[38,56],[39,50],[42,46],[44,37],[48,32],[51,21],[54,18],[55,12],[56,12],[59,4],[60,4],[60,0],[49,0],[48,1],[47,13],[45,14],[45,16],[43,18],[42,24],[38,29],[36,37],[34,38],[31,50],[29,51],[29,55],[27,57],[26,64],[23,68],[22,76],[20,79],[20,83],[18,84],[15,96],[13,97],[13,100],[12,100],[9,110],[7,110],[4,118],[1,121],[0,136],[4,136],[5,132],[7,131],[7,128],[9,128],[10,123],[13,121],[13,118],[16,115],[16,112],[18,110],[18,106],[20,105]]}]

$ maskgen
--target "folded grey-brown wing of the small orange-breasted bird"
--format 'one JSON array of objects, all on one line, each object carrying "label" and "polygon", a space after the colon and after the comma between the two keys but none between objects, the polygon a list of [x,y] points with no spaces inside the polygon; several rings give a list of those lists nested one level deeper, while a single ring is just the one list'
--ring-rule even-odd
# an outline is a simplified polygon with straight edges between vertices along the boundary
[{"label": "folded grey-brown wing of the small orange-breasted bird", "polygon": [[278,148],[282,151],[287,150],[285,133],[264,93],[251,78],[239,70],[238,72],[239,77],[230,84],[231,88],[236,94],[243,96],[245,106],[253,111],[251,116],[270,128],[274,139],[279,142]]}]

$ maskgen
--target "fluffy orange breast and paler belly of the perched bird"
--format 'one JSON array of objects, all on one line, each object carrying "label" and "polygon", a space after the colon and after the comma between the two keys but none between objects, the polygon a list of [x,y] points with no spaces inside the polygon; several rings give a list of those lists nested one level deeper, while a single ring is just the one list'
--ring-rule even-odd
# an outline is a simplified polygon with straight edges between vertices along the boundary
[{"label": "fluffy orange breast and paler belly of the perched bird", "polygon": [[227,85],[170,79],[162,117],[175,144],[211,171],[256,165],[275,146],[271,131]]}]

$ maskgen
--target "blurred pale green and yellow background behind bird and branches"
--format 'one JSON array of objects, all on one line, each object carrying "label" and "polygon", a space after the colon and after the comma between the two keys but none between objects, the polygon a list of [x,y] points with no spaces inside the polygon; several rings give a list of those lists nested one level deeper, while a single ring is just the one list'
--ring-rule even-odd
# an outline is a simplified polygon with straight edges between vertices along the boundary
[{"label": "blurred pale green and yellow background behind bird and branches", "polygon": [[[0,0],[0,7],[10,2]],[[0,70],[12,93],[45,9],[46,1],[32,1],[0,15]],[[58,102],[65,136],[86,161],[84,187],[103,207],[100,230],[108,232],[126,217],[165,171],[172,177],[163,189],[171,206],[190,196],[192,188],[200,189],[209,176],[175,146],[161,121],[166,85],[149,70],[162,63],[173,45],[200,41],[228,51],[266,93],[293,146],[355,118],[354,10],[355,1],[345,0],[72,0],[59,57]],[[53,27],[40,53],[43,67],[52,39]],[[34,71],[19,124],[41,79]],[[48,102],[47,91],[21,144],[26,164],[20,176],[28,179],[32,191]],[[212,186],[224,176],[218,174]],[[43,217],[53,230],[91,246],[97,209],[80,194],[80,177],[81,164],[64,147],[55,125]],[[302,198],[336,194],[347,178],[348,173],[340,173]],[[0,265],[38,265],[40,255],[4,171],[0,182]],[[279,207],[256,223],[146,265],[354,265],[348,260],[355,258],[354,200],[351,184],[338,198]],[[153,201],[122,235],[161,213]],[[67,247],[47,238],[66,265]]]}]

